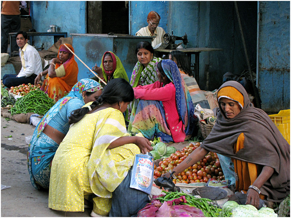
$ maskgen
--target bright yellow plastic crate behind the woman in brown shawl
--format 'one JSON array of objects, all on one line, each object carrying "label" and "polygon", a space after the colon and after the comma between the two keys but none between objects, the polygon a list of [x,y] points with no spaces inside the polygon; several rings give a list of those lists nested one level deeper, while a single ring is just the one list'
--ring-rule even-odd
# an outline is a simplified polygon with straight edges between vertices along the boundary
[{"label": "bright yellow plastic crate behind the woman in brown shawl", "polygon": [[269,115],[283,137],[290,144],[290,109],[280,110],[278,114]]}]

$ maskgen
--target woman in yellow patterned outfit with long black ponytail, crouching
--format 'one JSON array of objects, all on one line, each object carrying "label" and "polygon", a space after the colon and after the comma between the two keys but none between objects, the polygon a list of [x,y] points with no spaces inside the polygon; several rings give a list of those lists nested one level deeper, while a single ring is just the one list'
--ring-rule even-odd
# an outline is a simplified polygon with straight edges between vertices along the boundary
[{"label": "woman in yellow patterned outfit with long black ponytail, crouching", "polygon": [[125,79],[112,79],[95,102],[72,112],[52,162],[49,208],[84,211],[84,197],[94,194],[92,214],[108,215],[135,154],[152,150],[148,139],[127,134],[122,113],[133,99]]}]

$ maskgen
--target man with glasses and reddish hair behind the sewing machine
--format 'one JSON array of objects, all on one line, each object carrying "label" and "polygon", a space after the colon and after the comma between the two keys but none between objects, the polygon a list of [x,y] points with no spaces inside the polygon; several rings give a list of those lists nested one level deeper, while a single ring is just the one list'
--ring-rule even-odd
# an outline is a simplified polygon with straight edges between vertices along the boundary
[{"label": "man with glasses and reddish hair behind the sewing machine", "polygon": [[149,24],[146,27],[141,28],[139,31],[136,32],[136,36],[155,36],[156,38],[152,39],[152,46],[156,46],[161,42],[164,42],[163,36],[165,35],[165,31],[163,28],[158,27],[160,23],[160,15],[155,12],[151,11],[148,14],[147,23]]}]

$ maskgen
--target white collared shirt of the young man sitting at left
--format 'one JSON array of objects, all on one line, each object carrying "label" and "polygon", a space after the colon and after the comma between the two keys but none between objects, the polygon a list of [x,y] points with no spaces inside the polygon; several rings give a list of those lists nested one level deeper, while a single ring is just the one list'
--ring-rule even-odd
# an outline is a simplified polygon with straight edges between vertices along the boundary
[{"label": "white collared shirt of the young man sitting at left", "polygon": [[19,56],[21,59],[22,68],[17,77],[28,77],[32,74],[38,75],[42,72],[43,68],[40,54],[34,47],[26,43],[22,50],[19,48]]}]

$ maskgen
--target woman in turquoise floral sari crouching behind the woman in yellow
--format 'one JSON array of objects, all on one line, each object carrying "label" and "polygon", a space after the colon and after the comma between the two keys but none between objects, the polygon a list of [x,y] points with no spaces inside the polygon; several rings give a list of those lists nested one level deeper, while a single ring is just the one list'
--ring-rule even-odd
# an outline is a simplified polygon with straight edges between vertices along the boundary
[{"label": "woman in turquoise floral sari crouching behind the woman in yellow", "polygon": [[37,124],[27,153],[28,172],[33,187],[49,188],[51,162],[59,144],[69,131],[71,112],[98,99],[102,93],[101,89],[101,85],[93,79],[81,79]]}]

